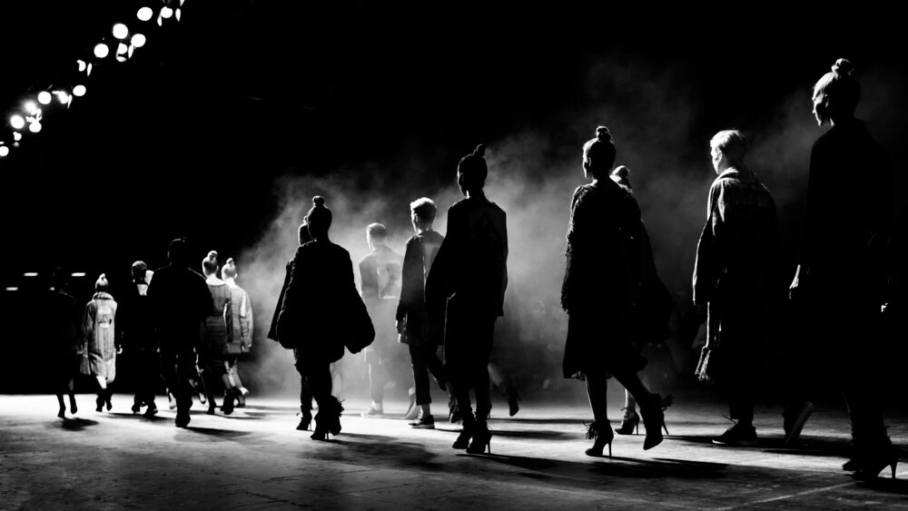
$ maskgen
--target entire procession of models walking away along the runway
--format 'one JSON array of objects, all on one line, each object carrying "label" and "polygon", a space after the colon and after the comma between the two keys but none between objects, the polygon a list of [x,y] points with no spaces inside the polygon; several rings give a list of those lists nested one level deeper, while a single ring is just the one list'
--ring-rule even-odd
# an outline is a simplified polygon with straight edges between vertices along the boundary
[{"label": "entire procession of models walking away along the runway", "polygon": [[[880,350],[855,350],[836,339],[861,339],[868,346],[882,342],[877,329],[888,278],[893,204],[851,192],[848,175],[862,169],[882,189],[893,178],[882,149],[854,118],[860,87],[853,71],[849,61],[840,59],[814,86],[816,122],[831,128],[810,155],[804,241],[790,288],[793,307],[801,311],[796,335],[803,342],[789,359],[801,378],[787,385],[783,423],[785,440],[796,438],[814,408],[814,388],[853,375],[854,383],[843,388],[853,431],[853,455],[844,469],[857,479],[869,479],[885,467],[892,467],[894,477],[898,461],[874,387],[873,357]],[[757,437],[754,403],[761,377],[755,359],[765,348],[775,305],[769,283],[778,226],[772,193],[746,164],[745,135],[716,133],[709,151],[717,177],[707,194],[688,311],[706,318],[696,378],[726,391],[735,422],[712,441],[741,446]],[[331,210],[323,197],[313,199],[268,332],[293,351],[301,377],[297,428],[309,430],[314,421],[313,439],[341,433],[343,407],[332,381],[345,349],[362,351],[368,370],[370,406],[363,418],[385,416],[384,391],[393,380],[399,388],[409,388],[410,407],[403,417],[410,427],[435,427],[431,376],[448,397],[449,421],[461,424],[452,447],[479,454],[491,450],[493,383],[508,399],[509,414],[518,412],[517,388],[495,342],[496,324],[503,324],[498,319],[508,318],[506,294],[514,292],[508,290],[507,217],[483,192],[489,173],[484,154],[479,145],[460,159],[457,184],[464,199],[450,206],[443,235],[434,229],[437,206],[427,197],[410,203],[414,234],[402,254],[387,244],[384,225],[367,226],[370,253],[358,264],[360,290],[350,253],[329,236]],[[520,333],[566,339],[558,370],[564,378],[585,382],[593,415],[587,427],[593,444],[586,452],[592,457],[604,456],[606,447],[611,456],[615,433],[632,434],[641,421],[644,449],[663,442],[663,431],[668,434],[665,410],[673,399],[652,392],[640,378],[646,365],[641,350],[672,331],[690,330],[682,324],[686,314],[678,300],[659,279],[630,171],[616,168],[616,160],[615,139],[599,126],[582,147],[589,182],[577,187],[570,201],[561,289],[567,331],[553,327],[551,304],[538,302],[529,308],[535,319],[528,323],[548,331]],[[93,379],[96,409],[112,408],[110,386],[122,350],[133,354],[138,382],[133,413],[141,408],[146,415],[157,413],[154,394],[162,375],[178,427],[190,422],[193,395],[207,403],[210,414],[221,396],[225,415],[244,405],[248,391],[238,363],[252,349],[252,302],[237,285],[235,261],[221,265],[218,253],[210,251],[201,267],[193,265],[183,239],[171,242],[168,260],[155,271],[143,261],[133,263],[130,292],[120,300],[114,300],[102,274],[81,316],[64,291],[62,273],[54,274],[60,417],[66,412],[64,395],[71,412],[77,410],[75,369]],[[514,357],[524,347],[508,349]],[[626,389],[624,416],[616,428],[607,414],[608,378]],[[314,417],[313,400],[318,407]]]}]

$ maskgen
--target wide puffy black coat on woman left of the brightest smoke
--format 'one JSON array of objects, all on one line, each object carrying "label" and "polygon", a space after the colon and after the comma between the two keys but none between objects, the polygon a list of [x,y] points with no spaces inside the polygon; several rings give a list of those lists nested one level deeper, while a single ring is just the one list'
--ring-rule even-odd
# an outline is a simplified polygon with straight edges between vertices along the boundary
[{"label": "wide puffy black coat on woman left of the brightest smoke", "polygon": [[341,359],[352,314],[350,293],[359,300],[348,251],[328,240],[301,245],[278,317],[281,344],[296,347],[308,364]]}]

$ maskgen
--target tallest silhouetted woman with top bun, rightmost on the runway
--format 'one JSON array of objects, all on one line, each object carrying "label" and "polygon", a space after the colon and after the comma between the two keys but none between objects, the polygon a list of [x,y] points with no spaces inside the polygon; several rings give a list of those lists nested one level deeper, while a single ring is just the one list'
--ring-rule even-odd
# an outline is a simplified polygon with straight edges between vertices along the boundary
[{"label": "tallest silhouetted woman with top bun, rightmost on the runway", "polygon": [[[888,158],[863,121],[854,118],[861,87],[854,65],[839,59],[814,85],[814,116],[830,129],[814,142],[804,210],[804,232],[793,300],[807,305],[809,366],[827,384],[841,385],[852,422],[855,479],[877,477],[898,453],[886,436],[880,403],[881,304],[887,282],[887,246],[893,221],[893,175]],[[854,190],[854,170],[881,193]],[[806,368],[814,369],[814,368]],[[843,378],[848,375],[848,378]],[[847,379],[847,382],[845,382]],[[793,418],[795,414],[787,414]],[[786,424],[789,436],[803,426]],[[788,421],[786,421],[788,422]]]}]

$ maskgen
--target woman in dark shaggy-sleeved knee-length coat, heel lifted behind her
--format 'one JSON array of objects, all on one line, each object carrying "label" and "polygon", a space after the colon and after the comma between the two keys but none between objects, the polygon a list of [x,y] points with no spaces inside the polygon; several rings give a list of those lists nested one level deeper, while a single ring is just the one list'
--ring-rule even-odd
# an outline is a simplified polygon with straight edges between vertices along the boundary
[{"label": "woman in dark shaggy-sleeved knee-length coat, heel lifted behind her", "polygon": [[[583,146],[583,172],[592,182],[577,187],[571,201],[568,264],[561,305],[568,311],[565,378],[586,379],[594,422],[589,456],[602,456],[614,437],[607,416],[607,378],[611,374],[640,405],[646,426],[643,448],[662,442],[662,399],[640,381],[646,365],[631,342],[632,302],[642,279],[640,211],[637,201],[608,177],[615,144],[605,126]],[[667,403],[665,404],[667,406]]]}]

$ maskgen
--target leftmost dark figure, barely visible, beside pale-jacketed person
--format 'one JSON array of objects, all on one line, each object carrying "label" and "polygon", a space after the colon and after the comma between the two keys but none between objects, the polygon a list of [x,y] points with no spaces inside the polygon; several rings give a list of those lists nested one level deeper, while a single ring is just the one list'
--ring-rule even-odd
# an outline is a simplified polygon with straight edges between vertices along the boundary
[{"label": "leftmost dark figure, barely visible, beside pale-jacketed person", "polygon": [[79,337],[79,321],[81,311],[75,299],[66,292],[66,274],[60,268],[54,269],[54,292],[47,304],[46,329],[47,345],[51,351],[51,364],[56,384],[57,402],[60,411],[57,417],[66,417],[66,405],[63,395],[69,395],[69,408],[71,413],[76,413],[79,408],[75,404],[73,393],[73,377],[78,369],[78,350],[82,346]]}]

